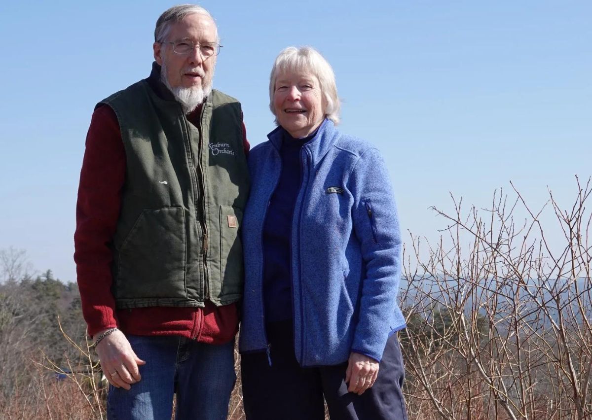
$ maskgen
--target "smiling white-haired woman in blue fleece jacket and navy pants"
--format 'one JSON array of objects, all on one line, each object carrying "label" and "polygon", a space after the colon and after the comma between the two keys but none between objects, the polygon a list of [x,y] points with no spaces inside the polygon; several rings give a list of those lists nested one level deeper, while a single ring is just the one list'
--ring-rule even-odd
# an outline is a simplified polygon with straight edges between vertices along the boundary
[{"label": "smiling white-haired woman in blue fleece jacket and navy pants", "polygon": [[240,331],[247,419],[405,419],[401,238],[384,161],[336,130],[333,70],[289,47],[269,81],[277,127],[249,156]]}]

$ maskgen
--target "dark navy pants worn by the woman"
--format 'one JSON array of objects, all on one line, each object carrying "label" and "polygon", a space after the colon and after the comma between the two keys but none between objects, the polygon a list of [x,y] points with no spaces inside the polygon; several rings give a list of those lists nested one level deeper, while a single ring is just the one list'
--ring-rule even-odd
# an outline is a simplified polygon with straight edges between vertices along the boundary
[{"label": "dark navy pants worn by the woman", "polygon": [[403,399],[403,357],[393,334],[387,341],[374,386],[362,395],[348,392],[345,370],[335,366],[300,367],[292,324],[268,324],[271,360],[266,353],[241,355],[243,403],[247,420],[323,420],[324,399],[332,420],[407,420]]}]

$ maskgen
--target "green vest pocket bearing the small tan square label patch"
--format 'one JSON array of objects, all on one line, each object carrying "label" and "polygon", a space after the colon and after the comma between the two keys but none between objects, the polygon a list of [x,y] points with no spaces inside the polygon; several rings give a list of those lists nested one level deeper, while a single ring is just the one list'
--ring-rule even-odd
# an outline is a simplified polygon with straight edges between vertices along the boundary
[{"label": "green vest pocket bearing the small tan square label patch", "polygon": [[243,244],[240,228],[243,212],[233,206],[220,206],[220,280],[221,295],[242,294]]}]

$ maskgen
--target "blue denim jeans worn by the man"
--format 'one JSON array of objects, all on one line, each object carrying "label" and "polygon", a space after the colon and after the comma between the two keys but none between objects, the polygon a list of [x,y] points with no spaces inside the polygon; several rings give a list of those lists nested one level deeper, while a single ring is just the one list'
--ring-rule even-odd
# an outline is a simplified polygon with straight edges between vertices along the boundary
[{"label": "blue denim jeans worn by the man", "polygon": [[169,420],[175,393],[176,419],[226,419],[236,380],[234,340],[211,345],[172,335],[127,338],[146,364],[129,391],[109,386],[108,419]]}]

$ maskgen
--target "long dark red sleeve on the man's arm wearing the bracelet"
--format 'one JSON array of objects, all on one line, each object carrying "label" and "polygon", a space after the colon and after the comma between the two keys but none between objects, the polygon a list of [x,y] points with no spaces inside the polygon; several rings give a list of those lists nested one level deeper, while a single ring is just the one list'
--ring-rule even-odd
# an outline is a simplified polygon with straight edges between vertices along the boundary
[{"label": "long dark red sleeve on the man's arm wearing the bracelet", "polygon": [[92,114],[82,161],[74,260],[88,334],[117,326],[111,293],[111,240],[117,227],[126,151],[115,112],[101,106]]}]

